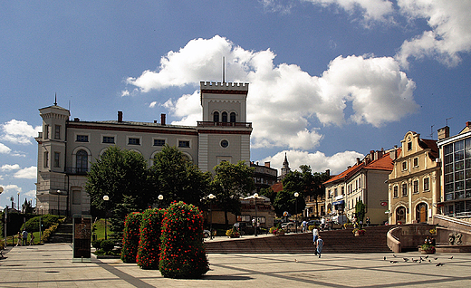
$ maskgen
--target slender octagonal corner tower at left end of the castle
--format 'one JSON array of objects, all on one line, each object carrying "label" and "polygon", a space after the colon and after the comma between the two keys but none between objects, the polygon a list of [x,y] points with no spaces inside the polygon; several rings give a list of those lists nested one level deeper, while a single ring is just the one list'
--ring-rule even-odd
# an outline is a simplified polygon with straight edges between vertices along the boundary
[{"label": "slender octagonal corner tower at left end of the castle", "polygon": [[38,143],[37,207],[43,213],[66,215],[67,186],[65,177],[66,124],[71,116],[57,103],[39,110],[43,118],[43,132]]}]

